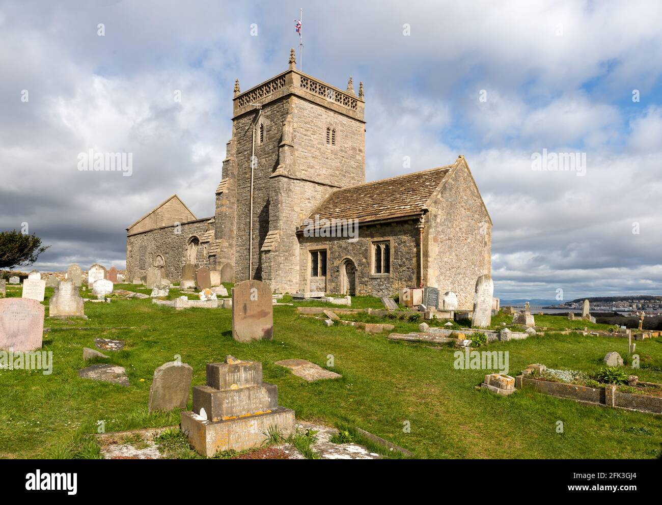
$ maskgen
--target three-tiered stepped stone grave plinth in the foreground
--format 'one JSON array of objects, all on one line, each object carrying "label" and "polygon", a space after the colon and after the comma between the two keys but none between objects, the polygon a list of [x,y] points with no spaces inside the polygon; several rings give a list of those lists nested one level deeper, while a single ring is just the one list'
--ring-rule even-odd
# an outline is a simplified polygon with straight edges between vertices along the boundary
[{"label": "three-tiered stepped stone grave plinth in the foreground", "polygon": [[262,382],[260,361],[227,356],[207,364],[207,385],[193,388],[193,412],[181,413],[181,431],[205,457],[258,447],[269,427],[294,433],[295,413],[278,405],[277,387]]}]

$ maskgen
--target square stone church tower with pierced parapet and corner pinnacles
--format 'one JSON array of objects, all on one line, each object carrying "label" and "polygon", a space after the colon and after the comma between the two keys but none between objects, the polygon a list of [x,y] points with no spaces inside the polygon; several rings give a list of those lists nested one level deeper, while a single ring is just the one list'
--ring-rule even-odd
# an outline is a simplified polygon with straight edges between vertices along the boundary
[{"label": "square stone church tower with pierced parapet and corner pinnacles", "polygon": [[211,250],[236,282],[299,290],[299,224],[331,191],[365,182],[364,105],[362,85],[356,96],[351,77],[342,91],[301,73],[294,50],[285,72],[244,92],[236,81]]}]

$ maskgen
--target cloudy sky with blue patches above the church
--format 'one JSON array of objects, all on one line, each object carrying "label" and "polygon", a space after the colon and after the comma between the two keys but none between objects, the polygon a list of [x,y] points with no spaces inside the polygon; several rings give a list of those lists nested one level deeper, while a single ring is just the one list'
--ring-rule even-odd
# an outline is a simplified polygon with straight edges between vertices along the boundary
[{"label": "cloudy sky with blue patches above the church", "polygon": [[[467,159],[495,296],[662,294],[662,3],[310,4],[3,1],[0,228],[51,245],[42,271],[122,268],[169,195],[211,216],[234,79],[287,68],[303,7],[303,71],[365,85],[368,181]],[[89,150],[132,175],[80,171]]]}]

